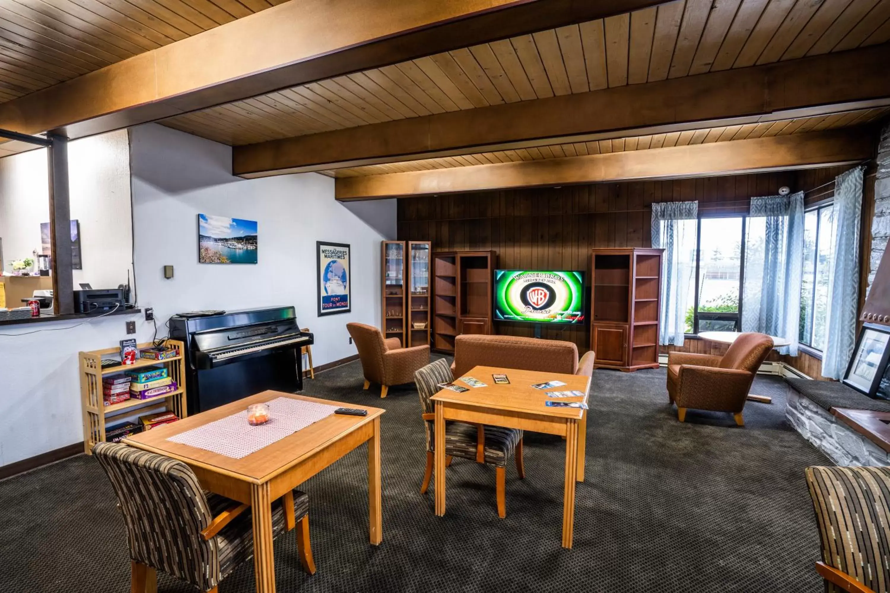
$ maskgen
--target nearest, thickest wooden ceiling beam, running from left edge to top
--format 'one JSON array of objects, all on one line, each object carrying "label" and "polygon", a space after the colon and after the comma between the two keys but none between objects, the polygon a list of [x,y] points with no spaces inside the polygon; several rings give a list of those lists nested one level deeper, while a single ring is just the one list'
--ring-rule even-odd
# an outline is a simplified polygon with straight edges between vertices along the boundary
[{"label": "nearest, thickest wooden ceiling beam, running from left edge to top", "polygon": [[291,0],[0,104],[0,128],[69,138],[663,0]]}]

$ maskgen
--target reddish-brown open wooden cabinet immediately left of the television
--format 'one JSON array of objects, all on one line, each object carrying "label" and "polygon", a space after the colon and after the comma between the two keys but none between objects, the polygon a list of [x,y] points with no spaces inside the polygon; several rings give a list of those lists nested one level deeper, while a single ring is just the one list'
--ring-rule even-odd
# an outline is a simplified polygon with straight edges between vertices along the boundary
[{"label": "reddish-brown open wooden cabinet immediately left of the television", "polygon": [[492,332],[497,258],[492,251],[433,253],[433,349],[454,352],[461,333]]}]

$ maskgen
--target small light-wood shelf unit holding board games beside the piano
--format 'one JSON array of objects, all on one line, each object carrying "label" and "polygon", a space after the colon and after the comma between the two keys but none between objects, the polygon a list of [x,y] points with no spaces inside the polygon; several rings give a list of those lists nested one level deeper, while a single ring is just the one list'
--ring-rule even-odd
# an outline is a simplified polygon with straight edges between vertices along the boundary
[{"label": "small light-wood shelf unit holding board games beside the piano", "polygon": [[[182,341],[177,340],[167,340],[166,345],[177,350],[178,355],[166,360],[137,358],[133,365],[117,365],[105,368],[102,368],[102,358],[108,358],[109,355],[114,355],[117,358],[120,354],[119,347],[78,353],[80,397],[84,415],[84,452],[86,454],[93,452],[93,445],[105,440],[105,425],[109,418],[113,416],[128,411],[133,413],[137,408],[143,407],[154,410],[158,405],[164,405],[168,412],[173,412],[180,419],[188,415],[185,403],[185,362],[182,356],[185,345]],[[151,348],[152,346],[154,346],[153,342],[137,344],[137,348],[141,350]],[[123,374],[125,371],[136,371],[150,366],[165,366],[167,375],[176,381],[178,389],[158,397],[150,397],[149,399],[126,399],[118,404],[105,405],[102,398],[103,377]]]}]

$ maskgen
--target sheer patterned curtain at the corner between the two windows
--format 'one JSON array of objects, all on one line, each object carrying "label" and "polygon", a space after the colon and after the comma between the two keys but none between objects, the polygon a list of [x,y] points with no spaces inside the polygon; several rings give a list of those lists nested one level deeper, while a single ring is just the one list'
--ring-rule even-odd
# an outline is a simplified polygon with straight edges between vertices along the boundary
[{"label": "sheer patterned curtain at the corner between the two windows", "polygon": [[791,342],[797,356],[800,282],[804,268],[804,192],[752,197],[745,242],[741,330]]}]

